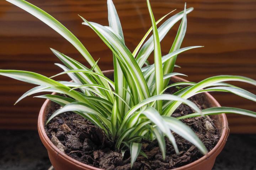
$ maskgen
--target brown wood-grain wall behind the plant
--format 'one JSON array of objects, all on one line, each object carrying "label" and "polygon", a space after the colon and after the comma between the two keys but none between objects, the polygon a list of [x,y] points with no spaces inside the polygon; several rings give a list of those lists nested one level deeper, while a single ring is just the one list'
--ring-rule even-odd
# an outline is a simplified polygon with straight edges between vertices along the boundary
[{"label": "brown wood-grain wall behind the plant", "polygon": [[[106,0],[28,0],[50,13],[71,30],[95,60],[100,58],[102,70],[112,69],[112,54],[88,27],[81,25],[78,14],[89,21],[108,25]],[[126,45],[133,50],[150,27],[145,0],[113,0],[124,32]],[[256,1],[255,0],[186,0],[195,9],[188,15],[188,27],[182,47],[203,45],[178,56],[181,69],[190,81],[200,81],[219,74],[243,75],[256,79]],[[183,9],[185,0],[151,0],[156,19]],[[161,43],[166,54],[176,35],[178,24]],[[76,49],[46,24],[20,8],[0,1],[0,69],[20,69],[54,75],[61,70],[49,47],[84,63]],[[152,62],[152,57],[151,60]],[[86,64],[87,65],[87,64]],[[66,78],[59,77],[58,79]],[[236,83],[253,93],[255,87]],[[35,129],[37,115],[44,100],[28,97],[13,106],[19,96],[33,87],[0,77],[0,128]],[[222,106],[256,111],[255,103],[241,97],[214,93]],[[228,115],[231,132],[255,133],[256,119]]]}]

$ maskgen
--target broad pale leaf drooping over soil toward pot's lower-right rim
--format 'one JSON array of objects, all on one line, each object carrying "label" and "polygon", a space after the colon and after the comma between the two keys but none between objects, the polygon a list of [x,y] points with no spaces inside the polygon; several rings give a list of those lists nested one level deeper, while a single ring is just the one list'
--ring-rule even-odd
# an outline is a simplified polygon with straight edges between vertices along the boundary
[{"label": "broad pale leaf drooping over soil toward pot's lower-right rim", "polygon": [[163,119],[167,122],[169,128],[174,131],[176,134],[180,135],[187,141],[191,142],[194,146],[196,146],[203,154],[207,154],[208,151],[206,147],[203,145],[203,142],[197,137],[194,131],[182,123],[182,121],[177,120],[173,117],[163,116]]}]

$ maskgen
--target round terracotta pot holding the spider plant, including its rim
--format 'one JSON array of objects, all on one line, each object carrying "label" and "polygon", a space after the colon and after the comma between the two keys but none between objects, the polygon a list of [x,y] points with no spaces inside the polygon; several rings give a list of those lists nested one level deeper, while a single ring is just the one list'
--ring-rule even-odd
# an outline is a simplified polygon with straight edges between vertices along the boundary
[{"label": "round terracotta pot holding the spider plant, including its rim", "polygon": [[[107,77],[111,77],[113,75],[113,70],[107,70],[103,72]],[[172,81],[186,81],[184,79],[173,77]],[[204,103],[207,107],[220,107],[220,104],[208,93],[204,93],[201,95],[203,97]],[[46,100],[40,110],[39,117],[38,117],[38,132],[39,136],[43,142],[43,145],[46,147],[48,151],[48,155],[50,158],[50,162],[52,163],[55,170],[101,170],[99,168],[95,168],[86,164],[83,164],[65,153],[61,152],[57,147],[53,145],[50,141],[46,132],[44,130],[44,125],[46,122],[46,115],[51,111],[53,106],[53,102],[50,100]],[[220,140],[218,141],[217,145],[207,154],[204,155],[202,158],[182,166],[180,168],[176,168],[175,170],[211,170],[216,157],[222,151],[226,139],[228,137],[228,121],[226,119],[225,114],[213,115],[211,116],[215,119],[217,128],[220,128],[219,133],[221,134]]]}]

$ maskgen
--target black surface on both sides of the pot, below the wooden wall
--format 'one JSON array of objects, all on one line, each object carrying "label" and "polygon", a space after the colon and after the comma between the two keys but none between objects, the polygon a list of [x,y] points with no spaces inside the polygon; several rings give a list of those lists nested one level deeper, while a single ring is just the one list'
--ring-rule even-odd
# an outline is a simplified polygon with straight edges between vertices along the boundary
[{"label": "black surface on both sides of the pot, below the wooden wall", "polygon": [[[228,137],[213,170],[256,170],[256,135]],[[47,170],[47,151],[37,131],[0,131],[0,170]]]}]

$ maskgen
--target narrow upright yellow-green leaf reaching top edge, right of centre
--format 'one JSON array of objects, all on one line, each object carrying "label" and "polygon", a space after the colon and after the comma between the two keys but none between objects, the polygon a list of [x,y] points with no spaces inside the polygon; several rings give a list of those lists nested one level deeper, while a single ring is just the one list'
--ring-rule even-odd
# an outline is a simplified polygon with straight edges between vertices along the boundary
[{"label": "narrow upright yellow-green leaf reaching top edge, right of centre", "polygon": [[[155,18],[151,10],[149,0],[147,0],[149,15],[153,27],[153,37],[154,37],[154,63],[155,63],[155,84],[156,84],[156,95],[159,95],[163,90],[163,70],[162,70],[162,57],[161,57],[161,47],[158,35],[158,30],[155,23]],[[158,112],[162,113],[162,101],[156,102],[156,108]]]}]

